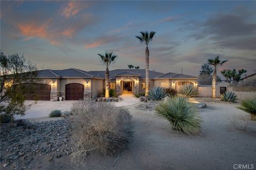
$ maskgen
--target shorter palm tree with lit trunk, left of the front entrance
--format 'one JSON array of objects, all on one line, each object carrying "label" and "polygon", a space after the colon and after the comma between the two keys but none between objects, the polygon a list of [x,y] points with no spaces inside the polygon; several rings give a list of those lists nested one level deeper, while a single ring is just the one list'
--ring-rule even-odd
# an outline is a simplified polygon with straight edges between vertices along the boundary
[{"label": "shorter palm tree with lit trunk, left of the front entrance", "polygon": [[108,67],[112,62],[115,62],[117,55],[113,54],[113,52],[106,52],[105,54],[98,54],[101,58],[103,64],[106,65],[106,73],[105,73],[105,97],[109,98],[109,70]]}]

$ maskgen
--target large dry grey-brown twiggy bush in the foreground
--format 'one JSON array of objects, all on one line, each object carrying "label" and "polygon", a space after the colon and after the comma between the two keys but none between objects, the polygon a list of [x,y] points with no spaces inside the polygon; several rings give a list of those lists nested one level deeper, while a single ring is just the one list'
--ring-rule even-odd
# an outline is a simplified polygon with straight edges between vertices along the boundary
[{"label": "large dry grey-brown twiggy bush in the foreground", "polygon": [[105,102],[77,101],[71,113],[74,162],[79,162],[87,151],[114,156],[129,148],[133,131],[127,109]]}]

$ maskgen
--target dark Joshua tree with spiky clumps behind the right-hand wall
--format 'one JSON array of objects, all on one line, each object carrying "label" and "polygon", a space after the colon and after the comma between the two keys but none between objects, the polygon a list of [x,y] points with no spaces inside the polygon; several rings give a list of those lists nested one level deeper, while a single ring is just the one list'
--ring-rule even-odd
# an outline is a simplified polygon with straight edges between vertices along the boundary
[{"label": "dark Joshua tree with spiky clumps behind the right-hand wall", "polygon": [[246,73],[244,69],[236,71],[236,69],[231,70],[222,70],[221,74],[226,78],[227,82],[230,84],[237,84],[241,80],[241,75]]}]

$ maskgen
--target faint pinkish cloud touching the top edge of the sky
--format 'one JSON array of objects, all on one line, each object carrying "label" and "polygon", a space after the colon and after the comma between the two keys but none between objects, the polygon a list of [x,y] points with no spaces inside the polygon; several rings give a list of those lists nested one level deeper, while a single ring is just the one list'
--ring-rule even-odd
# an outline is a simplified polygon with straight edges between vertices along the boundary
[{"label": "faint pinkish cloud touching the top edge of the sky", "polygon": [[66,18],[76,15],[83,8],[87,8],[89,5],[83,1],[70,1],[67,5],[62,6],[61,13]]}]

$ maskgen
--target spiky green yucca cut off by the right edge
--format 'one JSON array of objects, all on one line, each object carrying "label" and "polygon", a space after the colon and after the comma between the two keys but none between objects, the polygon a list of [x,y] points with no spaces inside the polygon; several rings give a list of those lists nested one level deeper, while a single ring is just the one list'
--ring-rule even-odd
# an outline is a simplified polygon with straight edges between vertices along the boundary
[{"label": "spiky green yucca cut off by the right edge", "polygon": [[242,100],[241,105],[237,106],[237,108],[250,113],[252,120],[256,121],[256,98]]}]

